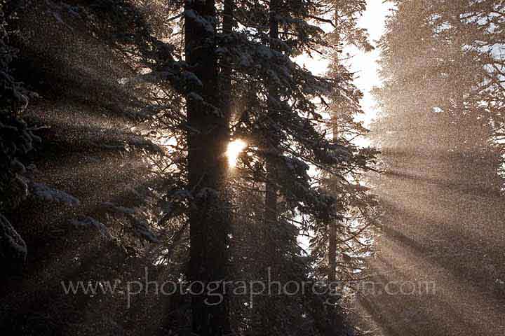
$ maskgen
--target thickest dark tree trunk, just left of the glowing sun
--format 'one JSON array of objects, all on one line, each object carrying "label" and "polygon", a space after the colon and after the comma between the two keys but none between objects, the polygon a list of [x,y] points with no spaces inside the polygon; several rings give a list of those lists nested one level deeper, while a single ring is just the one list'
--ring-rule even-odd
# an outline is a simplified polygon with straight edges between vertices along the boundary
[{"label": "thickest dark tree trunk, just left of the glowing sun", "polygon": [[[225,197],[227,160],[224,155],[229,141],[227,118],[215,109],[220,107],[217,57],[215,53],[215,0],[185,1],[184,34],[186,61],[201,80],[187,99],[189,131],[188,179],[194,200],[189,210],[190,261],[189,278],[205,286],[202,295],[192,295],[192,329],[196,335],[218,336],[229,333],[227,302],[217,304],[224,293],[227,274],[227,234],[229,210]],[[202,24],[202,20],[206,24]],[[212,29],[210,29],[212,27]],[[209,293],[207,286],[212,286]],[[199,286],[191,288],[198,293]]]}]

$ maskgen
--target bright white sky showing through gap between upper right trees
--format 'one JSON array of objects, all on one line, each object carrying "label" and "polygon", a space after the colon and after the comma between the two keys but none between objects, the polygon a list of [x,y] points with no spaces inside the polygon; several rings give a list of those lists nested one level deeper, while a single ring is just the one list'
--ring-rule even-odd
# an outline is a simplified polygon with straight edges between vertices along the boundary
[{"label": "bright white sky showing through gap between upper right trees", "polygon": [[[386,16],[389,15],[391,8],[391,3],[383,3],[383,0],[367,0],[367,9],[365,13],[363,13],[363,17],[359,20],[359,25],[360,27],[368,29],[370,41],[372,41],[373,45],[375,45],[374,42],[377,41],[384,32]],[[377,59],[379,59],[379,50],[376,49],[372,52],[365,53],[354,47],[344,48],[344,55],[347,54],[352,56],[350,68],[351,71],[356,73],[355,83],[364,94],[361,104],[365,111],[365,116],[360,119],[365,121],[365,125],[368,125],[370,120],[377,114],[375,111],[375,100],[372,94],[370,94],[370,90],[380,84],[376,63]],[[315,55],[314,58],[302,55],[298,57],[297,62],[318,75],[325,73],[327,68],[327,62]]]}]

